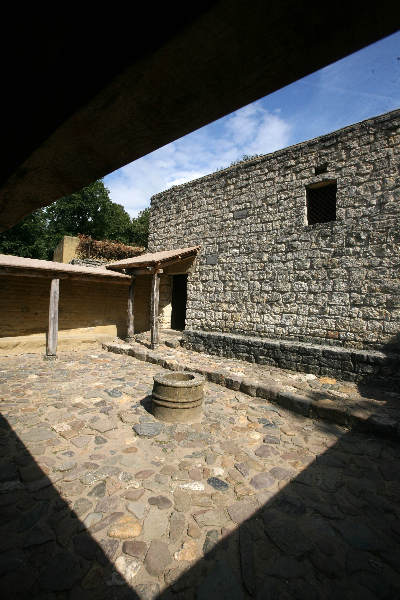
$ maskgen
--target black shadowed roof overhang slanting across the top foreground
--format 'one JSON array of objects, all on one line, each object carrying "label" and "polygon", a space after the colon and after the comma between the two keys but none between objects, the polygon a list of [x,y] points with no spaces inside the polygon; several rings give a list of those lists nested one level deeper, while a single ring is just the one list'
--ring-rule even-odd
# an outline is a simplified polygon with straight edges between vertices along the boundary
[{"label": "black shadowed roof overhang slanting across the top foreground", "polygon": [[[45,10],[45,9],[43,9]],[[400,3],[167,3],[7,14],[0,231],[396,31]],[[47,17],[47,18],[46,18]]]}]

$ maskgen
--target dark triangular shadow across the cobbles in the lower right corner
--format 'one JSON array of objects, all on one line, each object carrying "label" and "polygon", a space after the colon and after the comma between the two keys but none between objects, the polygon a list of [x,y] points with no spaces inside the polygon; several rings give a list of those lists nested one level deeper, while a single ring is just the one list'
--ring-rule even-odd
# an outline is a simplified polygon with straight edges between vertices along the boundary
[{"label": "dark triangular shadow across the cobbles in the lower right corner", "polygon": [[[261,509],[251,498],[228,508],[240,526],[222,540],[211,530],[214,547],[160,598],[399,598],[399,459],[396,442],[345,434],[278,494],[265,492]],[[290,473],[257,477],[274,476]]]}]

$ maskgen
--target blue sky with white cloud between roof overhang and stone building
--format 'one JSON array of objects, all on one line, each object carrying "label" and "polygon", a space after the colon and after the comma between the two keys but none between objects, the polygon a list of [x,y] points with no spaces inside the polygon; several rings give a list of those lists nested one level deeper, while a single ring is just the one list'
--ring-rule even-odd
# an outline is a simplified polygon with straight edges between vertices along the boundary
[{"label": "blue sky with white cloud between roof overhang and stone building", "polygon": [[104,179],[136,216],[153,194],[400,107],[400,32],[136,160]]}]

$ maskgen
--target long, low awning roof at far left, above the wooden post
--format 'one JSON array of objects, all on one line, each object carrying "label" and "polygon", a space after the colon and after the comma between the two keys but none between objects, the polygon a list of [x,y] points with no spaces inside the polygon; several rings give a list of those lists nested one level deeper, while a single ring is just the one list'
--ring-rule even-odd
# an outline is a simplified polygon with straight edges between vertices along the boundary
[{"label": "long, low awning roof at far left, above the wooden post", "polygon": [[0,254],[0,275],[96,280],[123,284],[129,284],[131,280],[129,275],[107,271],[104,267],[83,267],[51,260],[23,258],[22,256],[12,256],[10,254]]}]

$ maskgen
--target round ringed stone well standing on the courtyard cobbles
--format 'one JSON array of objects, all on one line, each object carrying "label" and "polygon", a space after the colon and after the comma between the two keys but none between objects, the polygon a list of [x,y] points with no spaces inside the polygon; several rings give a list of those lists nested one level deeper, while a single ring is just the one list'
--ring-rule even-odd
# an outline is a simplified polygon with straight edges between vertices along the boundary
[{"label": "round ringed stone well standing on the courtyard cobbles", "polygon": [[203,414],[205,378],[198,373],[154,375],[152,410],[160,421],[190,423]]}]

